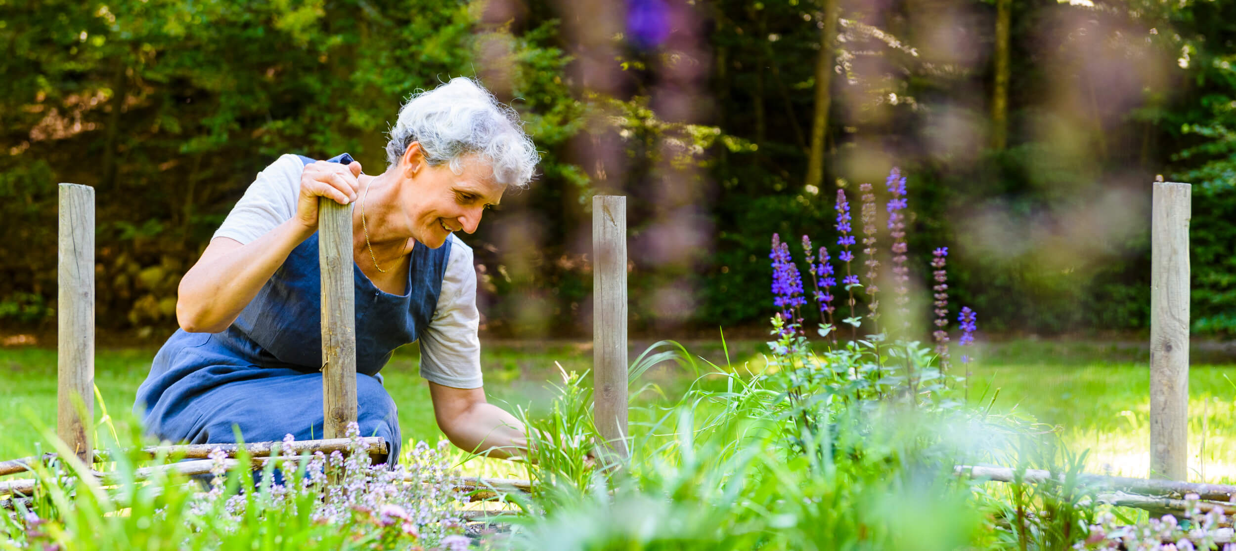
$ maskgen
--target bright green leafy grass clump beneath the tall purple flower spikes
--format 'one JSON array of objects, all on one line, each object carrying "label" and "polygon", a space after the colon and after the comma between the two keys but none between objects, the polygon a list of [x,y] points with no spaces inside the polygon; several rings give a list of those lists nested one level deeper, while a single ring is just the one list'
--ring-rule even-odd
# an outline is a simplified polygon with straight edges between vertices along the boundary
[{"label": "bright green leafy grass clump beneath the tall purple flower spikes", "polygon": [[[997,541],[991,509],[953,468],[959,457],[994,457],[993,442],[974,436],[989,425],[1022,427],[949,399],[921,346],[908,353],[922,379],[913,394],[901,356],[885,357],[878,377],[870,343],[815,353],[780,318],[771,332],[772,353],[754,372],[676,355],[705,373],[681,399],[633,406],[640,421],[627,461],[590,463],[586,448],[562,461],[562,450],[535,445],[536,479],[565,484],[541,490],[550,498],[541,515],[517,523],[504,545],[953,550]],[[527,419],[530,435],[566,427],[561,411],[586,410],[580,385],[565,379],[560,404]]]}]

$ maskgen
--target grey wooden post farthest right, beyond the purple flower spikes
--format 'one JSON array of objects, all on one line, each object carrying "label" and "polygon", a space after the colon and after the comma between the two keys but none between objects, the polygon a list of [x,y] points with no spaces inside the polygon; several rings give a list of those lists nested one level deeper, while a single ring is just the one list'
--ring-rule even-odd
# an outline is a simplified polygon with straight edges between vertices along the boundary
[{"label": "grey wooden post farthest right, beyond the purple flower spikes", "polygon": [[1187,481],[1189,184],[1156,182],[1151,206],[1151,477]]}]

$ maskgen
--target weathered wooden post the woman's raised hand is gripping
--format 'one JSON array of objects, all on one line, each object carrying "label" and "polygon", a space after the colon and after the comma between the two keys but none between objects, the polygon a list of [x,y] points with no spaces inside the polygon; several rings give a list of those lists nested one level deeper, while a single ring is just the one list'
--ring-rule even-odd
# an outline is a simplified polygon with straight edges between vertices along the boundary
[{"label": "weathered wooden post the woman's raised hand is gripping", "polygon": [[323,437],[342,439],[356,421],[356,283],[352,276],[352,205],[318,199],[321,266]]}]

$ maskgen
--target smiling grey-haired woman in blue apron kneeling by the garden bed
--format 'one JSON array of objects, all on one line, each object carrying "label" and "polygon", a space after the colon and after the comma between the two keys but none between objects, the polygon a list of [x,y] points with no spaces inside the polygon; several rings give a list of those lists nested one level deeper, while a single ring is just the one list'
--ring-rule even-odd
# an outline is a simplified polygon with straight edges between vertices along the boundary
[{"label": "smiling grey-haired woman in blue apron kneeling by the garden bed", "polygon": [[456,78],[413,96],[387,145],[387,168],[361,172],[284,154],[248,187],[180,280],[176,331],[137,390],[135,413],[158,437],[190,444],[321,437],[318,200],[352,209],[356,394],[365,436],[398,457],[396,404],[378,373],[394,348],[420,345],[438,426],[456,446],[520,453],[523,425],[486,403],[472,250],[508,187],[538,154],[518,115]]}]

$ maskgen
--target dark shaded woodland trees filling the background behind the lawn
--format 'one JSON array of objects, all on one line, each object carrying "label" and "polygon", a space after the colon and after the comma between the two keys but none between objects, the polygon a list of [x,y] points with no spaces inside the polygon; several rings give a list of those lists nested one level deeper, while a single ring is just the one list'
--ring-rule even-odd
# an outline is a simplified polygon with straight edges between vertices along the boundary
[{"label": "dark shaded woodland trees filling the background behind the lawn", "polygon": [[262,167],[378,173],[400,101],[473,75],[545,157],[464,236],[491,335],[591,330],[596,193],[634,331],[759,326],[771,233],[836,242],[836,189],[900,167],[917,285],[950,247],[986,331],[1146,327],[1151,182],[1195,184],[1194,330],[1229,336],[1234,40],[1217,0],[0,0],[0,327],[54,329],[58,182],[96,189],[99,326],[162,337]]}]

